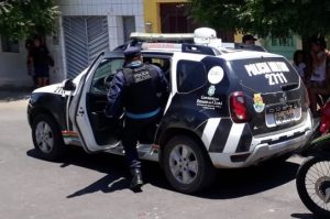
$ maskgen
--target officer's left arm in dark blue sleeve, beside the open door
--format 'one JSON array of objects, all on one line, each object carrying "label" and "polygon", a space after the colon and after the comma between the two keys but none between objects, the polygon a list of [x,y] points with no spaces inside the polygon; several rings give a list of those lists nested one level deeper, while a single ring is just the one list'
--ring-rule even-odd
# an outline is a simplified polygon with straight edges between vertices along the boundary
[{"label": "officer's left arm in dark blue sleeve, beside the open door", "polygon": [[122,70],[118,72],[113,77],[107,98],[108,98],[108,106],[106,108],[106,114],[110,118],[117,118],[120,116],[122,103],[122,90],[124,86],[124,76]]}]

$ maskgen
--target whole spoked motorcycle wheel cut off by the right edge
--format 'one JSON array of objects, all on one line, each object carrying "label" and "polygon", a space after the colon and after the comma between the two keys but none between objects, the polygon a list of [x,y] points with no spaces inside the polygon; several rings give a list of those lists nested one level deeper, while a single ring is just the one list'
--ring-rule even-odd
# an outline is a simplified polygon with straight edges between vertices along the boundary
[{"label": "whole spoked motorcycle wheel cut off by the right edge", "polygon": [[330,218],[330,157],[308,157],[297,172],[296,186],[311,212]]}]

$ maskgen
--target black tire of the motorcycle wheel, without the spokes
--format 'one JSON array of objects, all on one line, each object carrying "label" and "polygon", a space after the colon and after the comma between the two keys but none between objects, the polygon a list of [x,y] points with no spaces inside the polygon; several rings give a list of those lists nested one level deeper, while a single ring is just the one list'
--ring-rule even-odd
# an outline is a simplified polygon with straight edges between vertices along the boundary
[{"label": "black tire of the motorcycle wheel, without the spokes", "polygon": [[[310,197],[310,195],[307,190],[307,187],[306,187],[306,178],[307,178],[308,171],[312,166],[315,166],[316,164],[318,164],[320,162],[330,162],[330,157],[310,156],[307,160],[305,160],[297,172],[296,186],[297,186],[297,190],[298,190],[301,201],[311,212],[314,212],[317,217],[320,217],[320,218],[330,218],[330,211],[318,206]],[[329,167],[330,167],[330,165],[329,165]],[[330,177],[330,176],[328,176],[328,177]],[[312,186],[315,186],[315,185],[312,185]],[[318,187],[318,188],[320,188],[320,187]],[[316,196],[319,197],[319,195],[317,193],[318,191],[316,191]],[[328,204],[328,205],[330,205],[330,204]]]}]

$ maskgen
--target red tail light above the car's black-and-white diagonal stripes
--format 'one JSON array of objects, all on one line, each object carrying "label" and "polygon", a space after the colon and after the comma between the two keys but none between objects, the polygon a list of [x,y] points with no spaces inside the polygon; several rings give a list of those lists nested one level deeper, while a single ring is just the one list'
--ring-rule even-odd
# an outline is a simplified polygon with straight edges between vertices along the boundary
[{"label": "red tail light above the car's black-and-white diagonal stripes", "polygon": [[230,112],[232,120],[237,123],[249,121],[245,96],[242,91],[232,92],[230,95]]}]

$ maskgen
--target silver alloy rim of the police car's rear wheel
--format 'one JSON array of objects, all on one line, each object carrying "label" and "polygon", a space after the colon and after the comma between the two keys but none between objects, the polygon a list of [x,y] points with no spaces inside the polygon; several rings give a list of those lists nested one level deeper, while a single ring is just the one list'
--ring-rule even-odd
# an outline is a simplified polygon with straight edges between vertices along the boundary
[{"label": "silver alloy rim of the police car's rear wheel", "polygon": [[169,154],[172,175],[182,184],[190,184],[198,174],[198,161],[195,152],[187,145],[176,145]]}]

